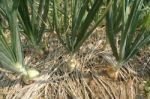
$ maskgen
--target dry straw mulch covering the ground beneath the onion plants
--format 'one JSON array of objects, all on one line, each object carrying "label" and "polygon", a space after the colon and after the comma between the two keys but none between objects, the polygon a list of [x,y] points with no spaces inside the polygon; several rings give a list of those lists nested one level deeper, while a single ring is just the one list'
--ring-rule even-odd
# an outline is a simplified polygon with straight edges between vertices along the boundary
[{"label": "dry straw mulch covering the ground beneath the onion plants", "polygon": [[150,52],[144,48],[118,71],[106,41],[98,29],[76,54],[77,68],[66,72],[69,55],[56,35],[48,33],[48,51],[34,54],[27,49],[25,63],[40,71],[34,81],[24,83],[21,76],[0,70],[0,99],[147,99],[144,85],[149,80]]}]

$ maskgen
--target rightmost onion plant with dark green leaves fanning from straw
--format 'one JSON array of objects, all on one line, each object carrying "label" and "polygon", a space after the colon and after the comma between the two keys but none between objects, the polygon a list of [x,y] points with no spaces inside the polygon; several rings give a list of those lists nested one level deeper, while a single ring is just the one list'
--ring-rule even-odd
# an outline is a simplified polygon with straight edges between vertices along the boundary
[{"label": "rightmost onion plant with dark green leaves fanning from straw", "polygon": [[143,0],[114,0],[107,13],[106,32],[117,69],[150,42],[150,12],[141,22],[142,4]]}]

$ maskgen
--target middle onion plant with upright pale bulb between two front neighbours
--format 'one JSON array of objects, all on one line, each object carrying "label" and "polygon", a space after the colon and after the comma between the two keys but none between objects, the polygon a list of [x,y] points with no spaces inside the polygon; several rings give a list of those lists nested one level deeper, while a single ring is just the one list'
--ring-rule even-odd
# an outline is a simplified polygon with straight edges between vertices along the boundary
[{"label": "middle onion plant with upright pale bulb between two front neighbours", "polygon": [[52,1],[55,31],[60,42],[70,54],[69,68],[74,68],[77,63],[75,53],[103,20],[112,1],[110,0],[105,11],[96,22],[94,18],[103,6],[103,0]]}]

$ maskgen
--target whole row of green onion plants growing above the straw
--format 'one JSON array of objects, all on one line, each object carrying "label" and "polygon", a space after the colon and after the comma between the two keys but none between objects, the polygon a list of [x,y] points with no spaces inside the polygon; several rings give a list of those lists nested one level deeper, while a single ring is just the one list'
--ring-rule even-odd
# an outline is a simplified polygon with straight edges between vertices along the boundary
[{"label": "whole row of green onion plants growing above the straw", "polygon": [[[0,0],[1,67],[22,74],[25,79],[37,76],[39,72],[24,63],[20,35],[26,37],[31,47],[42,50],[43,34],[53,30],[70,55],[68,66],[74,68],[76,53],[105,20],[106,36],[116,59],[114,67],[120,69],[150,42],[147,3],[144,0]],[[10,40],[5,37],[7,26]]]}]

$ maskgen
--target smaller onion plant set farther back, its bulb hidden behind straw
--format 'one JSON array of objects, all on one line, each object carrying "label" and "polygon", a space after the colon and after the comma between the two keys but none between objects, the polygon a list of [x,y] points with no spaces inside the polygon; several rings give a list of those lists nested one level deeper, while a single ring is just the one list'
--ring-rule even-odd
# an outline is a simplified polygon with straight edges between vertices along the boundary
[{"label": "smaller onion plant set farther back, its bulb hidden behind straw", "polygon": [[[40,42],[46,27],[50,0],[20,0],[18,11],[23,33],[34,48],[40,49]],[[37,10],[38,9],[38,10]]]}]

